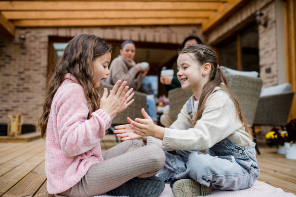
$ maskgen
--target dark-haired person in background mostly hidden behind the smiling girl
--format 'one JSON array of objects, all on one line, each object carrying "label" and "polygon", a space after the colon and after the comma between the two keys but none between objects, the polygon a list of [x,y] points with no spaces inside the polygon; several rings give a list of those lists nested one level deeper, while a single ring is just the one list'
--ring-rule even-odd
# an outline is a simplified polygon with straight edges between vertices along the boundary
[{"label": "dark-haired person in background mostly hidden behind the smiling girl", "polygon": [[[196,35],[189,35],[188,37],[185,38],[181,45],[181,49],[187,48],[188,46],[192,46],[195,44],[203,44],[201,39],[196,36]],[[181,83],[178,80],[177,77],[174,76],[161,76],[160,75],[160,83],[164,85],[164,88],[167,92],[170,90],[173,90],[175,88],[181,87]],[[173,121],[170,119],[169,116],[170,112],[170,105],[167,105],[163,109],[163,114],[160,116],[160,123],[164,126],[169,128],[172,124]]]}]

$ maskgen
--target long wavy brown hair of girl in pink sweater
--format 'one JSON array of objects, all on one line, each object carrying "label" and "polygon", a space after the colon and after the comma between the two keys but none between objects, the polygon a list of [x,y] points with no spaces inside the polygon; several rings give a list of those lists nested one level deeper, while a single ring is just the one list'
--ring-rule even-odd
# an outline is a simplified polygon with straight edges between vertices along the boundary
[{"label": "long wavy brown hair of girl in pink sweater", "polygon": [[83,87],[89,107],[88,119],[91,117],[92,112],[100,108],[99,88],[95,88],[93,61],[111,51],[111,45],[92,34],[79,34],[69,42],[63,56],[53,67],[47,80],[43,113],[37,123],[42,138],[46,134],[52,100],[67,73],[71,73],[76,77],[78,83]]}]

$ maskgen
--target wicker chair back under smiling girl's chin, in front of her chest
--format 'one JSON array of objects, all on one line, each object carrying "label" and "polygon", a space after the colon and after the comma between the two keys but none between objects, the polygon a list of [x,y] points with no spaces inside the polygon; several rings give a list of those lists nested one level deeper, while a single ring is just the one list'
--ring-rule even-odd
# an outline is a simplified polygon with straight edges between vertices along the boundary
[{"label": "wicker chair back under smiling girl's chin, in front of her chest", "polygon": [[193,95],[193,91],[176,88],[169,91],[170,119],[175,122],[185,102]]}]

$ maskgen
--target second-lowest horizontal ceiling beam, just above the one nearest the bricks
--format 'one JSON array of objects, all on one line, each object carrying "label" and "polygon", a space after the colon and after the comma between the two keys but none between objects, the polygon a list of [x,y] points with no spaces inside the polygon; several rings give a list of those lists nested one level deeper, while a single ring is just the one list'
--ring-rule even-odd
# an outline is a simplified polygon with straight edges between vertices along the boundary
[{"label": "second-lowest horizontal ceiling beam, just above the one nearest the bricks", "polygon": [[112,19],[112,18],[209,18],[214,11],[2,11],[8,20]]}]

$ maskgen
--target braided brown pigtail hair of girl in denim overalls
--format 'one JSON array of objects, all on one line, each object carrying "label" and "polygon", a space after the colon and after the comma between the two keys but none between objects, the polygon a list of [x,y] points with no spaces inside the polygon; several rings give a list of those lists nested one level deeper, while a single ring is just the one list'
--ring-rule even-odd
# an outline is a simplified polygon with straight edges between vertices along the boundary
[{"label": "braided brown pigtail hair of girl in denim overalls", "polygon": [[[204,65],[206,63],[209,63],[211,65],[211,71],[209,76],[209,81],[205,84],[203,87],[198,107],[195,116],[193,117],[193,120],[190,122],[190,124],[194,127],[196,125],[196,122],[201,118],[202,112],[205,108],[206,101],[208,97],[213,92],[214,88],[217,86],[220,87],[223,91],[228,93],[228,95],[233,99],[236,115],[245,127],[245,130],[249,133],[249,137],[253,140],[252,130],[250,126],[248,125],[247,120],[243,116],[241,112],[240,105],[238,103],[238,100],[234,97],[234,95],[231,93],[229,88],[227,87],[226,78],[223,70],[220,67],[217,67],[217,55],[216,52],[211,49],[208,46],[205,45],[192,45],[187,48],[182,49],[179,52],[179,55],[182,53],[191,53],[193,55],[193,58],[199,65]],[[221,83],[224,83],[225,85],[222,85]]]}]

